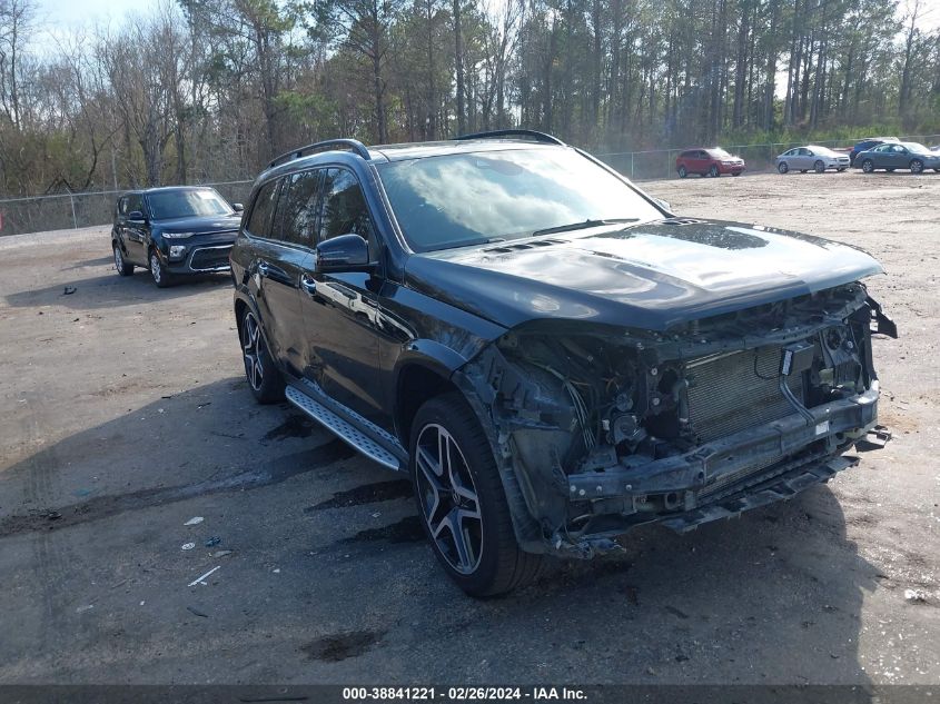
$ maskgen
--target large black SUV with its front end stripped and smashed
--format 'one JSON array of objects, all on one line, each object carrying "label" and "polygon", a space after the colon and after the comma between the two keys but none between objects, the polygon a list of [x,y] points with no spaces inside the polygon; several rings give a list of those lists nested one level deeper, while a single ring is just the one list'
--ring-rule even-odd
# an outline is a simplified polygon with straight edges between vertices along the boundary
[{"label": "large black SUV with its front end stripped and smashed", "polygon": [[675,217],[538,132],[275,160],[231,252],[251,389],[409,473],[467,593],[852,466],[875,427],[859,249]]}]

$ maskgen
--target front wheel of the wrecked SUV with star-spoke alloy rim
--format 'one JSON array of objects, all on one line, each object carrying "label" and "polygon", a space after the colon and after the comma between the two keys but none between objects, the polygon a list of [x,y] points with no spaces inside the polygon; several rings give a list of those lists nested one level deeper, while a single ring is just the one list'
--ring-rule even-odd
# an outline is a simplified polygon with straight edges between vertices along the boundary
[{"label": "front wheel of the wrecked SUV with star-spoke alloy rim", "polygon": [[520,549],[489,442],[463,396],[425,403],[409,447],[422,525],[457,586],[494,596],[535,579],[543,557]]}]

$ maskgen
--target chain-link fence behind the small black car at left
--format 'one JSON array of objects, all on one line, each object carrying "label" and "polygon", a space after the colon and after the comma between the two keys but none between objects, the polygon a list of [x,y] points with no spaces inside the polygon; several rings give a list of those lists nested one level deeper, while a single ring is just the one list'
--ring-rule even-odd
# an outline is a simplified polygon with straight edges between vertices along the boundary
[{"label": "chain-link fence behind the small black car at left", "polygon": [[[200,184],[215,188],[229,202],[246,202],[253,181]],[[0,236],[107,225],[118,198],[127,190],[0,198]]]}]

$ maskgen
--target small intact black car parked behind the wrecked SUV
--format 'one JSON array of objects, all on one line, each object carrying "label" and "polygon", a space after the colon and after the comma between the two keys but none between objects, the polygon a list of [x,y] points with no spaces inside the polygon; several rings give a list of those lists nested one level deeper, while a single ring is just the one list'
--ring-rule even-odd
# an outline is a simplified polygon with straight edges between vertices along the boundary
[{"label": "small intact black car parked behind the wrecked SUV", "polygon": [[135,266],[150,269],[160,288],[178,276],[227,271],[241,209],[214,188],[170,186],[125,194],[111,228],[115,268],[120,276],[133,274]]}]

